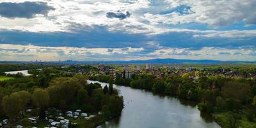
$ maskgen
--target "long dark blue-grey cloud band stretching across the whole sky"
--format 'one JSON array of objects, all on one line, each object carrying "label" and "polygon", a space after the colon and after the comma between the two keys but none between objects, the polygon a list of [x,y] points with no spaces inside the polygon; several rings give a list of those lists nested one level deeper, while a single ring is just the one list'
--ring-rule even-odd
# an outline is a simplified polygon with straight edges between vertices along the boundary
[{"label": "long dark blue-grey cloud band stretching across the whole sky", "polygon": [[[108,26],[73,26],[74,33],[52,32],[33,33],[28,31],[0,31],[0,44],[38,45],[50,47],[88,47],[88,48],[124,48],[143,47],[141,52],[152,52],[159,47],[177,47],[198,50],[203,47],[223,47],[237,49],[237,47],[255,48],[256,36],[233,40],[232,38],[204,36],[195,37],[202,33],[197,32],[172,32],[147,36],[142,33],[132,34],[125,31],[109,31]],[[148,45],[148,42],[157,42]],[[111,51],[111,49],[109,50]]]}]

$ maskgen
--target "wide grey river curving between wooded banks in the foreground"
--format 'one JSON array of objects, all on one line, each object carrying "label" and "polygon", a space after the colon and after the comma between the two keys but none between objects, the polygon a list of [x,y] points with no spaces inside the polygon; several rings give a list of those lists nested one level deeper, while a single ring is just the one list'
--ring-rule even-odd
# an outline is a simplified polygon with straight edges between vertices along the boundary
[{"label": "wide grey river curving between wooded banks in the foreground", "polygon": [[[88,81],[88,83],[100,83]],[[105,86],[108,83],[100,83]],[[126,86],[116,86],[124,97],[122,115],[106,122],[102,128],[219,128],[211,118],[204,118],[194,105],[173,97],[161,97],[151,92]]]}]

